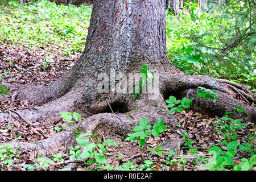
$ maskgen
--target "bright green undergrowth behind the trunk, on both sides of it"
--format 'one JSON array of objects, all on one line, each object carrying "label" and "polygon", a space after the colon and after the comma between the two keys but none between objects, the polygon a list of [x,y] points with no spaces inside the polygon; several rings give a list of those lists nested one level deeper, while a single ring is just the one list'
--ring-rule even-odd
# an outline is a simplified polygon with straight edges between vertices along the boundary
[{"label": "bright green undergrowth behind the trunk, on both sides of it", "polygon": [[[59,50],[61,55],[67,57],[83,51],[92,6],[56,5],[46,0],[20,6],[13,0],[8,6],[0,7],[1,44],[28,49],[47,47],[50,52]],[[176,67],[190,75],[226,78],[241,82],[255,91],[255,53],[246,55],[245,50],[235,48],[221,61],[213,60],[215,49],[200,46],[190,39],[192,34],[207,34],[204,36],[205,44],[221,47],[218,39],[222,37],[218,30],[230,28],[232,21],[230,18],[216,20],[196,5],[190,12],[186,8],[180,11],[179,16],[166,11],[168,57]],[[255,47],[254,40],[255,37],[250,40],[250,47]]]}]

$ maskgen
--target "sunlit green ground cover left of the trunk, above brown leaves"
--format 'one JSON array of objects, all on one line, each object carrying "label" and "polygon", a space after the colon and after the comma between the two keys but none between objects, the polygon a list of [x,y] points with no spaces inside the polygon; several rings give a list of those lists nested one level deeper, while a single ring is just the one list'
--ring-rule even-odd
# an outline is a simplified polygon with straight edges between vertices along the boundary
[{"label": "sunlit green ground cover left of the trunk, above brown leaves", "polygon": [[23,7],[15,1],[10,4],[0,9],[0,43],[30,49],[51,47],[63,55],[83,51],[91,6],[57,6],[46,0]]}]

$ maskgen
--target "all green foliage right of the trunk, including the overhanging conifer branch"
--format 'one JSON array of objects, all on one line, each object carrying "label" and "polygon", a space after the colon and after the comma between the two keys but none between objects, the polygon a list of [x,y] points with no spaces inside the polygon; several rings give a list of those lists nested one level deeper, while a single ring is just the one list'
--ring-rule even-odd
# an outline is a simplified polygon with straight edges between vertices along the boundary
[{"label": "all green foliage right of the trunk, including the overhanging conifer branch", "polygon": [[[229,5],[236,9],[226,6],[211,13],[201,11],[195,3],[191,4],[191,13],[180,11],[179,16],[174,16],[167,11],[167,54],[172,63],[190,75],[226,78],[242,82],[249,89],[255,88],[255,34],[246,39],[243,36],[255,32],[255,9],[253,0],[250,2],[251,8],[247,1],[230,1]],[[251,28],[245,33],[250,20],[254,23],[251,22]],[[243,41],[233,50],[230,47],[218,55],[223,51],[221,48],[228,47],[229,43],[236,45],[237,40]]]}]

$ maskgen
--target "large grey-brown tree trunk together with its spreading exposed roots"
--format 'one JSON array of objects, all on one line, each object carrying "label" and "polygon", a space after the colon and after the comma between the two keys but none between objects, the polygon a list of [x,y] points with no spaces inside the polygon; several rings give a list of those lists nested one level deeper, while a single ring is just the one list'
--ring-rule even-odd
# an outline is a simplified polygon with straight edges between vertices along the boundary
[{"label": "large grey-brown tree trunk together with its spreading exposed roots", "polygon": [[[170,63],[166,55],[165,6],[165,0],[94,1],[84,52],[70,71],[49,86],[7,84],[17,89],[16,99],[37,105],[37,110],[24,109],[16,113],[26,121],[42,122],[59,119],[61,111],[76,111],[85,117],[74,126],[81,131],[93,133],[104,129],[125,138],[141,118],[148,118],[150,122],[163,118],[165,123],[175,125],[177,119],[166,114],[164,102],[174,95],[194,97],[195,108],[197,104],[207,104],[208,113],[216,115],[233,110],[232,102],[236,102],[238,106],[246,106],[244,110],[251,115],[246,119],[255,121],[255,107],[250,106],[255,98],[245,86],[208,76],[186,75]],[[97,92],[101,73],[110,75],[110,69],[116,73],[138,73],[142,63],[159,75],[159,95],[155,100],[148,100],[147,94],[139,94],[134,100],[134,94]],[[198,98],[197,86],[217,90],[217,102]],[[112,113],[109,105],[118,114]],[[0,113],[0,120],[8,121],[9,113]],[[72,129],[37,143],[13,144],[19,145],[21,151],[53,153],[73,144]]]}]

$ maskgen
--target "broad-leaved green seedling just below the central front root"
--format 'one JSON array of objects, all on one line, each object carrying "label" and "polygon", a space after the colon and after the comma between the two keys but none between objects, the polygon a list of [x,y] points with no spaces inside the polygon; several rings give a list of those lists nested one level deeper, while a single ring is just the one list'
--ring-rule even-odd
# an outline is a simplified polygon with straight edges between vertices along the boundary
[{"label": "broad-leaved green seedling just below the central front root", "polygon": [[166,130],[166,125],[162,125],[163,119],[160,119],[156,121],[155,125],[153,126],[153,129],[150,130],[152,127],[151,125],[148,125],[147,118],[142,118],[139,121],[139,125],[135,126],[133,131],[137,131],[133,134],[128,133],[125,140],[130,140],[131,142],[135,142],[138,140],[139,144],[143,147],[146,143],[146,140],[148,140],[147,136],[151,133],[154,137],[159,137],[159,133]]}]

